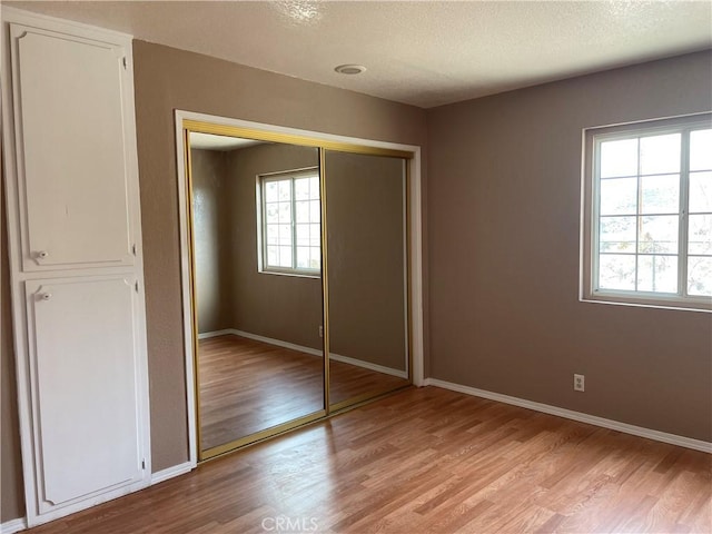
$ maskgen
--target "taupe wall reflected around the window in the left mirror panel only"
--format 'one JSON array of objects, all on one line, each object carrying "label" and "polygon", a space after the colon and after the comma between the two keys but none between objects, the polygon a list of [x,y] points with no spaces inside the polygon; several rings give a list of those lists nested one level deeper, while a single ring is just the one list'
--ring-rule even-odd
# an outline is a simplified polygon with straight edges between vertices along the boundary
[{"label": "taupe wall reflected around the window in the left mirror panel only", "polygon": [[316,148],[191,150],[200,334],[236,328],[320,349],[322,280],[258,273],[256,177],[318,167]]}]

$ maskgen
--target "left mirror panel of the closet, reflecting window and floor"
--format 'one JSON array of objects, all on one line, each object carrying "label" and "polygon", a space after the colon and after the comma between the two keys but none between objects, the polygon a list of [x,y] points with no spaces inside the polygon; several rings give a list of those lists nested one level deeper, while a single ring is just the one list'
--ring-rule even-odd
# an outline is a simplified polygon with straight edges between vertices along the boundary
[{"label": "left mirror panel of the closet, reflecting window and floor", "polygon": [[319,158],[196,132],[190,147],[205,453],[324,409]]}]

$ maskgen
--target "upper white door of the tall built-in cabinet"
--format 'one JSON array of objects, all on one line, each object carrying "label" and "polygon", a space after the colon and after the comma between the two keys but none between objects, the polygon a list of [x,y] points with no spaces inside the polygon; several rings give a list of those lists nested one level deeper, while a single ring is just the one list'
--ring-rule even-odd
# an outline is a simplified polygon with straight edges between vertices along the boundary
[{"label": "upper white door of the tall built-in cabinet", "polygon": [[130,265],[123,49],[11,26],[24,270]]}]

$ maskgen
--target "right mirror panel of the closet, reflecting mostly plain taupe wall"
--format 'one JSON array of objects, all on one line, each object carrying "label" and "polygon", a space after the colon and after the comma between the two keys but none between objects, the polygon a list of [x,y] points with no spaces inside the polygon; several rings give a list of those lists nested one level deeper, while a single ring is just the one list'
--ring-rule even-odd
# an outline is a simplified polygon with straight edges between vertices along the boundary
[{"label": "right mirror panel of the closet, reflecting mostly plain taupe wall", "polygon": [[409,384],[406,162],[326,151],[329,404]]}]

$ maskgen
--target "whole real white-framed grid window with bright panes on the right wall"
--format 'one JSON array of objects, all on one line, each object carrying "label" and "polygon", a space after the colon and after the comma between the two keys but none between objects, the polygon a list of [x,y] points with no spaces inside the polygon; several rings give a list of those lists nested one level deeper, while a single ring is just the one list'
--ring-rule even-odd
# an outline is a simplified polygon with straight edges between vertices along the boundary
[{"label": "whole real white-framed grid window with bright panes on the right wall", "polygon": [[584,298],[712,308],[712,116],[586,132]]}]

